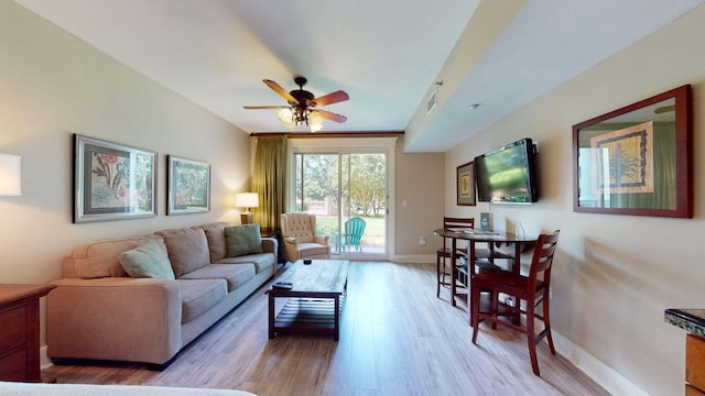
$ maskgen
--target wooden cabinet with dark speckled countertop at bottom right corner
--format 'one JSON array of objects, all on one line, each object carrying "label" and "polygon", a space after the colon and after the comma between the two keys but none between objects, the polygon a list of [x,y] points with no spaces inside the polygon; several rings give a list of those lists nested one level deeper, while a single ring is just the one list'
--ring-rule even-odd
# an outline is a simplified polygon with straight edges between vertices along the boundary
[{"label": "wooden cabinet with dark speckled countertop at bottom right corner", "polygon": [[705,309],[666,309],[664,320],[685,337],[685,395],[705,396]]}]

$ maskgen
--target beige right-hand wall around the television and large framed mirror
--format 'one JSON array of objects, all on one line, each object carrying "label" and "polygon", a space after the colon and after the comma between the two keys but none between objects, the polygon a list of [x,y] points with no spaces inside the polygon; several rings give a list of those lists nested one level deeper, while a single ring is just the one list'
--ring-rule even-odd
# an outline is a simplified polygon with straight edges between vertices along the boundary
[{"label": "beige right-hand wall around the television and large framed mirror", "polygon": [[[492,206],[496,228],[562,230],[552,280],[554,330],[567,340],[561,353],[615,394],[634,394],[620,378],[651,395],[683,394],[685,332],[664,323],[663,310],[705,308],[702,37],[705,6],[446,153],[447,211],[478,216],[487,205],[455,206],[455,167],[520,138],[539,141],[541,200]],[[695,218],[573,212],[572,125],[684,84],[694,98]]]}]

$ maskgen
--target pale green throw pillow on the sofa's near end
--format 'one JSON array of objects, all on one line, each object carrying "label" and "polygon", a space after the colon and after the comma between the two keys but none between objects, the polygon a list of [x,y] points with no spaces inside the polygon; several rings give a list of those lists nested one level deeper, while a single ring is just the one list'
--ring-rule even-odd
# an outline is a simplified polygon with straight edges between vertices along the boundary
[{"label": "pale green throw pillow on the sofa's near end", "polygon": [[147,240],[141,245],[120,253],[120,264],[132,277],[175,278],[169,256],[153,240]]}]

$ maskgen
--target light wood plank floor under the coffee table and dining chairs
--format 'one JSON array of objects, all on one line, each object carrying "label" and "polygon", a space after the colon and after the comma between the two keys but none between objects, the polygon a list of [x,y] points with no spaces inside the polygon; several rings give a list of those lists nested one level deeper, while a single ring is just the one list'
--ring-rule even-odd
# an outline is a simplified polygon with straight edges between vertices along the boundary
[{"label": "light wood plank floor under the coffee table and dining chairs", "polygon": [[340,341],[268,339],[262,288],[181,352],[163,372],[139,365],[51,366],[58,383],[235,388],[268,395],[607,395],[565,359],[481,324],[435,296],[435,264],[352,262]]}]

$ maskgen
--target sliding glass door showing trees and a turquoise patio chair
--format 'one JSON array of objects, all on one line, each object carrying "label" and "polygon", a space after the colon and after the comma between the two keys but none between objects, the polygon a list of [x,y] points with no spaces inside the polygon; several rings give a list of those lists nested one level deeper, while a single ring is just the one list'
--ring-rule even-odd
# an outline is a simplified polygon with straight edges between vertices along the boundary
[{"label": "sliding glass door showing trees and a turquoise patio chair", "polygon": [[388,154],[317,147],[292,155],[292,206],[316,215],[316,231],[329,235],[334,256],[386,258]]}]

